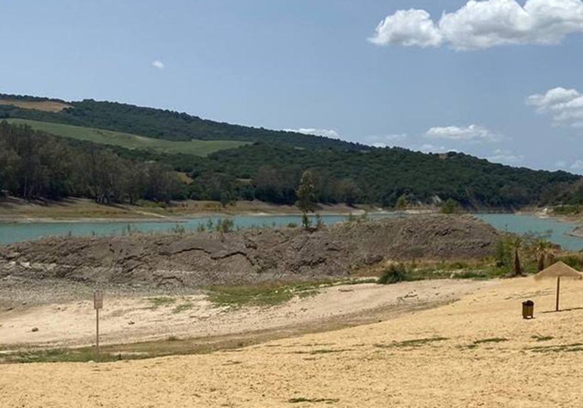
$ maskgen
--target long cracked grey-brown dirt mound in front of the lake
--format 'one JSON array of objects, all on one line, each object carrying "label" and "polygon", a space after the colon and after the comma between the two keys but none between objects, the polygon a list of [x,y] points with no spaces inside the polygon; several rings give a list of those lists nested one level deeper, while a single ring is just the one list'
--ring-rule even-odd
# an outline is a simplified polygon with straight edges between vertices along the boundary
[{"label": "long cracked grey-brown dirt mound in front of the lake", "polygon": [[349,275],[382,259],[476,258],[497,233],[471,216],[398,217],[319,231],[268,228],[237,233],[47,238],[0,247],[0,279],[87,283],[208,284]]}]

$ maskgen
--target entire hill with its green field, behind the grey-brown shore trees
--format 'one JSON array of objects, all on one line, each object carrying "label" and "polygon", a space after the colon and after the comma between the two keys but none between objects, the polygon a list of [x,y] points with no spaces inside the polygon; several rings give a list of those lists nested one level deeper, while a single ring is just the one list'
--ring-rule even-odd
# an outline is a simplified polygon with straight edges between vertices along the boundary
[{"label": "entire hill with its green field, behind the grey-brown shore trees", "polygon": [[[92,154],[109,146],[112,152],[103,153],[108,160],[124,164],[108,170],[126,170],[125,178],[110,175],[115,180],[110,184],[115,186],[108,187],[114,193],[108,194],[107,201],[131,201],[135,194],[128,186],[137,181],[126,174],[127,169],[157,162],[166,170],[188,173],[194,180],[161,194],[164,199],[191,198],[224,204],[258,199],[293,205],[301,173],[311,170],[315,199],[320,203],[397,207],[440,205],[454,199],[470,209],[518,209],[583,202],[583,178],[578,175],[503,166],[463,153],[377,149],[113,102],[68,102],[2,94],[0,101],[4,103],[0,104],[0,117],[66,136],[63,140],[75,151]],[[61,110],[55,111],[57,107]],[[10,142],[5,143],[10,147]],[[23,185],[15,188],[9,178],[2,180],[2,172],[13,178],[19,174],[9,159],[6,153],[0,154],[0,189],[29,198],[31,194],[25,192]],[[20,159],[29,163],[26,158]],[[58,196],[66,191],[69,195],[96,198],[94,191],[86,188],[87,182],[66,180],[65,185],[75,188],[59,188]],[[138,196],[157,196],[147,193],[143,185],[140,189]]]}]

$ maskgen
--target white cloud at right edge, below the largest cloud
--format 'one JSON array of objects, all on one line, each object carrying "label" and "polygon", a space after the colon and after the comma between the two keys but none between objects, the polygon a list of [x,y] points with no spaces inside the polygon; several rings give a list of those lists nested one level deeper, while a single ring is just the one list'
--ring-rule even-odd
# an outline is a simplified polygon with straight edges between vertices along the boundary
[{"label": "white cloud at right edge, below the largest cloud", "polygon": [[553,88],[529,96],[526,104],[540,113],[552,114],[555,125],[583,127],[583,95],[575,89]]}]

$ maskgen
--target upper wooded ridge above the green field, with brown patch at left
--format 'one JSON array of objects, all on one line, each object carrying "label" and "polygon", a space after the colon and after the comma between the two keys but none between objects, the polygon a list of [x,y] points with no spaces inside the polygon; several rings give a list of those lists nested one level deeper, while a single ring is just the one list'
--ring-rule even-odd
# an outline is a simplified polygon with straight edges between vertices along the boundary
[{"label": "upper wooded ridge above the green field, with brown patch at left", "polygon": [[[59,111],[49,111],[45,108],[48,103],[60,104],[59,106],[64,104],[67,107]],[[231,125],[186,113],[92,99],[66,102],[59,99],[0,94],[0,118],[54,122],[166,140],[239,140],[285,143],[311,149],[370,149],[368,146],[323,136]]]}]

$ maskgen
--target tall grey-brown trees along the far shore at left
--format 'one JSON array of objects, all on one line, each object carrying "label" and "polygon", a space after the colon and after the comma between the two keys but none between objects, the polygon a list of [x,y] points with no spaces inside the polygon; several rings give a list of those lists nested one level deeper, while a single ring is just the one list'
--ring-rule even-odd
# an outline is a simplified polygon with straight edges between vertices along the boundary
[{"label": "tall grey-brown trees along the far shore at left", "polygon": [[122,159],[106,147],[71,146],[29,126],[0,122],[0,191],[24,199],[92,198],[99,203],[185,198],[174,171]]}]

